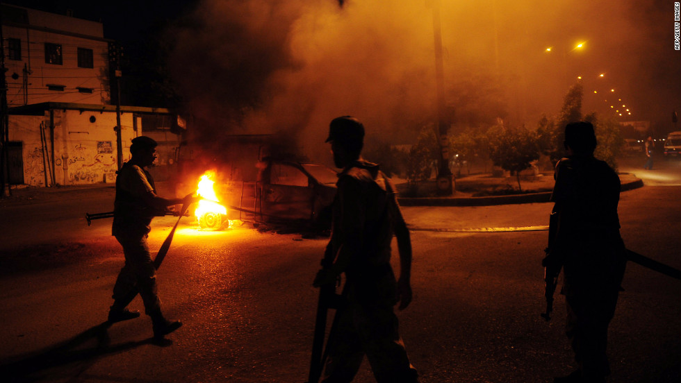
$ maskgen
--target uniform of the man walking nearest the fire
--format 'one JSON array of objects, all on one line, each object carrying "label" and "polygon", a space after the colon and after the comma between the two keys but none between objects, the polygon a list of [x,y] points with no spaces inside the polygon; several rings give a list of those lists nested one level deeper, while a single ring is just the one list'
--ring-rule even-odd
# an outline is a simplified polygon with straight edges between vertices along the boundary
[{"label": "uniform of the man walking nearest the fire", "polygon": [[116,178],[112,235],[123,247],[125,265],[113,287],[112,309],[124,309],[140,293],[149,315],[161,312],[156,289],[156,269],[147,244],[149,224],[154,210],[142,200],[154,191],[151,174],[138,165],[126,162]]}]

